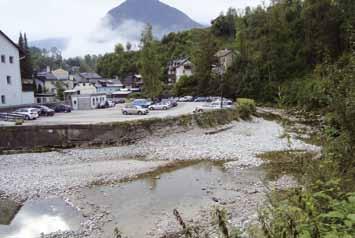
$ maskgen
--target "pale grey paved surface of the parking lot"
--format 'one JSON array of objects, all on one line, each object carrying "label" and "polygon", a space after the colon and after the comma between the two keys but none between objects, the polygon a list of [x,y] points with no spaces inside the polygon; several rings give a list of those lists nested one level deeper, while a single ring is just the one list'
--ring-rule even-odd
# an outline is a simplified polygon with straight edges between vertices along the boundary
[{"label": "pale grey paved surface of the parking lot", "polygon": [[177,107],[166,111],[150,111],[148,115],[123,115],[121,109],[124,104],[108,109],[90,111],[72,111],[71,113],[56,113],[54,117],[40,117],[37,120],[25,121],[24,125],[66,125],[66,124],[97,124],[117,121],[130,121],[148,118],[174,117],[193,113],[196,106],[203,103],[179,103]]}]

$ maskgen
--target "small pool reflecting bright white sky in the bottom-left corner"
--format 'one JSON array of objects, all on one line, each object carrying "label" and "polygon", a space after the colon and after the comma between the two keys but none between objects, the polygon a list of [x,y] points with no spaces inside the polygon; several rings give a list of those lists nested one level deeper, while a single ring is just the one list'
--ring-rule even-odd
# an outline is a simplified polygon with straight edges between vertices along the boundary
[{"label": "small pool reflecting bright white sky in the bottom-left corner", "polygon": [[41,233],[78,229],[79,214],[60,199],[25,203],[10,225],[0,225],[2,238],[38,238]]}]

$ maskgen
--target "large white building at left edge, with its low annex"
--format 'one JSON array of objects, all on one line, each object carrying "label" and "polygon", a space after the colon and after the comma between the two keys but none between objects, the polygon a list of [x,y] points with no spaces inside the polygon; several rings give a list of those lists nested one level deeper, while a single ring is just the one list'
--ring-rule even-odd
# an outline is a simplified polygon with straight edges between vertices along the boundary
[{"label": "large white building at left edge, with its low annex", "polygon": [[33,92],[23,92],[20,50],[0,30],[0,107],[34,103]]}]

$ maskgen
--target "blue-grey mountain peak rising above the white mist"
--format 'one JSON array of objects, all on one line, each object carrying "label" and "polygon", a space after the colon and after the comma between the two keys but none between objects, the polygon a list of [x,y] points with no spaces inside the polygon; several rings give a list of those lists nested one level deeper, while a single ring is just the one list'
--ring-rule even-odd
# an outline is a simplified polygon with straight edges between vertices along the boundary
[{"label": "blue-grey mountain peak rising above the white mist", "polygon": [[155,33],[161,34],[202,27],[182,11],[159,0],[126,0],[107,16],[112,29],[119,28],[125,21],[149,23]]}]

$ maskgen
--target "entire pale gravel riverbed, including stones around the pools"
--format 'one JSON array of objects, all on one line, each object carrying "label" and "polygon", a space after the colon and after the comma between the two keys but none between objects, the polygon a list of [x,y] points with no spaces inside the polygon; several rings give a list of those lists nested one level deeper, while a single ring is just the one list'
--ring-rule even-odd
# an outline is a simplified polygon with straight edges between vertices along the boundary
[{"label": "entire pale gravel riverbed, including stones around the pools", "polygon": [[[262,176],[249,170],[262,163],[257,154],[281,150],[319,151],[319,148],[296,137],[285,137],[280,124],[262,118],[234,122],[227,127],[216,133],[197,128],[166,137],[146,138],[122,147],[2,155],[0,196],[20,201],[61,197],[85,217],[78,231],[48,237],[110,237],[103,236],[103,228],[114,221],[114,214],[109,205],[99,204],[100,199],[95,201],[90,197],[88,189],[117,186],[122,180],[134,180],[148,172],[171,168],[177,161],[222,160],[226,161],[224,173],[234,180],[220,184],[217,181],[214,186],[206,184],[209,202],[196,204],[200,209],[193,214],[194,222],[208,223],[208,208],[219,204],[230,211],[234,224],[244,226],[255,216],[264,197]],[[155,228],[145,233],[146,237],[159,237],[177,229],[172,211],[162,213]]]}]

